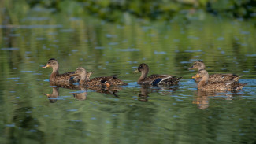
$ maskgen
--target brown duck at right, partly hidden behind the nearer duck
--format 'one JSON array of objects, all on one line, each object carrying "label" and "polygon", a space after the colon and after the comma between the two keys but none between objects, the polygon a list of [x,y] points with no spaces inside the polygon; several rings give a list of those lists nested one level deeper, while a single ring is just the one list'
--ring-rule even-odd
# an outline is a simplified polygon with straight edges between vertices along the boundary
[{"label": "brown duck at right, partly hidden behind the nearer duck", "polygon": [[[198,61],[195,61],[194,64],[191,66],[191,68],[188,68],[188,69],[198,69],[198,71],[200,70],[204,70],[206,69],[206,65],[203,63],[203,61],[201,60],[198,60]],[[232,80],[232,81],[238,81],[239,78],[241,76],[238,76],[238,75],[235,75],[235,74],[212,74],[209,76],[209,79],[208,81],[209,82],[225,82],[225,81],[229,81],[229,80]],[[195,82],[199,82],[201,80],[201,78],[195,78]]]}]

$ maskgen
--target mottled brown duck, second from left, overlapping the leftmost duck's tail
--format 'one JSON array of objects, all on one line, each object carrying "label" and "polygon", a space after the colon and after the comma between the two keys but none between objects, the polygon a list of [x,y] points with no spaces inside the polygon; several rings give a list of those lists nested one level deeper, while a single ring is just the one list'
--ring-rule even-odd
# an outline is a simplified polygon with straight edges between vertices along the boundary
[{"label": "mottled brown duck, second from left, overlapping the leftmost duck's tail", "polygon": [[85,68],[79,67],[76,68],[74,74],[70,76],[80,76],[80,85],[87,86],[112,86],[112,85],[128,85],[128,83],[124,83],[121,79],[118,79],[116,75],[113,76],[102,76],[95,77],[90,79],[92,72],[87,72]]}]

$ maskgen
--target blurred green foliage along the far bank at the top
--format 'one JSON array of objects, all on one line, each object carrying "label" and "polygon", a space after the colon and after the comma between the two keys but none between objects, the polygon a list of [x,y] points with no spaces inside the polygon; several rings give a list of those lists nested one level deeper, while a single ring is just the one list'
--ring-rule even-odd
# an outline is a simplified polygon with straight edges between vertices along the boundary
[{"label": "blurred green foliage along the far bank at the top", "polygon": [[176,15],[204,10],[213,15],[229,17],[256,17],[254,0],[27,0],[28,4],[54,8],[69,14],[85,13],[107,21],[122,21],[125,15],[147,20],[171,20]]}]

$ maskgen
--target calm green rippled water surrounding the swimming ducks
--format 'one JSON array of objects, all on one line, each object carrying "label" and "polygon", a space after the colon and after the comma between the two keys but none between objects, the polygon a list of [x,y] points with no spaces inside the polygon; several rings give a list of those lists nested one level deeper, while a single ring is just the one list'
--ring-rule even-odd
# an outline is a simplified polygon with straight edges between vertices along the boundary
[{"label": "calm green rippled water surrounding the swimming ducks", "polygon": [[[254,143],[256,31],[250,21],[199,15],[189,22],[128,20],[111,24],[46,9],[1,9],[0,143]],[[10,19],[11,17],[11,19]],[[60,72],[77,67],[118,75],[127,87],[72,90],[49,84],[49,58]],[[207,94],[188,71],[243,75],[237,93]],[[183,79],[176,87],[141,87],[150,74]],[[45,94],[50,95],[50,99]]]}]

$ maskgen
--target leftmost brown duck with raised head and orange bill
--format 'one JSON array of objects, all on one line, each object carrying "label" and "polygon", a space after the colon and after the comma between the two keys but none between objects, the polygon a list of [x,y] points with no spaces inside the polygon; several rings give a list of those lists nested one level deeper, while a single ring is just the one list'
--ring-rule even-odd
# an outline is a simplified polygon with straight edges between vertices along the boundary
[{"label": "leftmost brown duck with raised head and orange bill", "polygon": [[[47,61],[47,64],[42,68],[48,68],[48,67],[53,68],[53,72],[50,74],[50,79],[49,79],[51,83],[69,82],[70,75],[75,73],[75,72],[65,72],[63,74],[59,74],[58,72],[59,64],[58,64],[58,61],[54,58],[50,58]],[[77,82],[79,79],[80,77],[77,76],[76,79],[72,79],[72,81]]]}]

